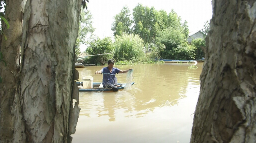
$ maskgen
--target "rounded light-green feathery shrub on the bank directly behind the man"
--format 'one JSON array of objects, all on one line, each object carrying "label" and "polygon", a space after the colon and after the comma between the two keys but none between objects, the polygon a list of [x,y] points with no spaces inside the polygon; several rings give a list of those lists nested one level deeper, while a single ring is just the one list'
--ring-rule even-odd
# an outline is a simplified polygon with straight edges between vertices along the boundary
[{"label": "rounded light-green feathery shrub on the bank directly behind the man", "polygon": [[142,61],[145,57],[143,40],[134,34],[116,36],[114,42],[114,59],[116,61]]}]

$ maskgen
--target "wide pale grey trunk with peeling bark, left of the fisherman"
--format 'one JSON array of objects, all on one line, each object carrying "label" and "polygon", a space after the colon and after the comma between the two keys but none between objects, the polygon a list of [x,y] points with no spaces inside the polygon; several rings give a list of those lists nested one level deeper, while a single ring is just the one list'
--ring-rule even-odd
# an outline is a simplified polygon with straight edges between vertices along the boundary
[{"label": "wide pale grey trunk with peeling bark, left of the fisherman", "polygon": [[[74,79],[82,0],[27,0],[14,142],[71,142],[79,115]],[[76,99],[72,107],[72,99]]]}]

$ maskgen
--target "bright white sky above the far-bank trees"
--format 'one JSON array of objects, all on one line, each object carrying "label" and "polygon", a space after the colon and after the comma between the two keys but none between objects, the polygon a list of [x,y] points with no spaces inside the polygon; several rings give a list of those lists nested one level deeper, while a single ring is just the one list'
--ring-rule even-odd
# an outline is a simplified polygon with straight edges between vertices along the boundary
[{"label": "bright white sky above the far-bank trees", "polygon": [[[93,27],[96,28],[94,34],[101,39],[113,38],[111,24],[114,16],[125,5],[132,12],[138,3],[156,10],[165,10],[167,13],[174,9],[182,21],[188,22],[189,32],[201,30],[204,22],[212,18],[212,0],[89,0],[87,10],[93,15]],[[86,46],[82,45],[80,48],[85,51]]]}]

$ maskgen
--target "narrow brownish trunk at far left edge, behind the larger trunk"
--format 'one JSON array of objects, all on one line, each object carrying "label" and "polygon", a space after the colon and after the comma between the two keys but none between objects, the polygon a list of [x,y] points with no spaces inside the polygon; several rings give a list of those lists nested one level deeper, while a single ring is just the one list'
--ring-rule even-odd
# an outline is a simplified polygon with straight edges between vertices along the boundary
[{"label": "narrow brownish trunk at far left edge, behind the larger trunk", "polygon": [[22,15],[24,0],[6,0],[5,18],[10,28],[2,23],[3,36],[1,52],[7,66],[0,62],[0,74],[3,82],[0,84],[0,143],[12,142],[13,137],[13,104],[16,94],[16,83],[20,67],[20,43],[22,36]]}]

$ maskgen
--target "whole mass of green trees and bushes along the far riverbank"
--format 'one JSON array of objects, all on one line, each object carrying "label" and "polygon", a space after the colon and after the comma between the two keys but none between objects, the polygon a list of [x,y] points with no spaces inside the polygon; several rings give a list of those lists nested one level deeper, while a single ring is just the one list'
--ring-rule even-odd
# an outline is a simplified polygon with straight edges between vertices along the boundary
[{"label": "whole mass of green trees and bushes along the far riverbank", "polygon": [[[180,16],[171,10],[155,10],[154,7],[138,4],[133,11],[124,6],[114,16],[110,37],[100,39],[91,36],[86,52],[90,55],[112,53],[88,57],[84,64],[105,64],[114,59],[116,64],[157,63],[156,59],[194,60],[204,57],[204,39],[187,42],[189,29],[187,21],[182,22]],[[204,35],[209,31],[209,22],[202,29]],[[150,53],[150,54],[149,54]]]}]

